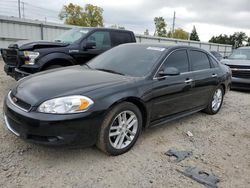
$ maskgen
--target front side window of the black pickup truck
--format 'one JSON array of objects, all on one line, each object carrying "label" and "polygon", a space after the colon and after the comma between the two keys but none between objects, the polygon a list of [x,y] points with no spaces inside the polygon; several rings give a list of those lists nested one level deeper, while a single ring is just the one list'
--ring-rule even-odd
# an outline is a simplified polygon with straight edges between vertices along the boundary
[{"label": "front side window of the black pickup truck", "polygon": [[105,49],[111,47],[110,35],[107,31],[94,32],[88,37],[87,40],[95,42],[97,49]]}]

